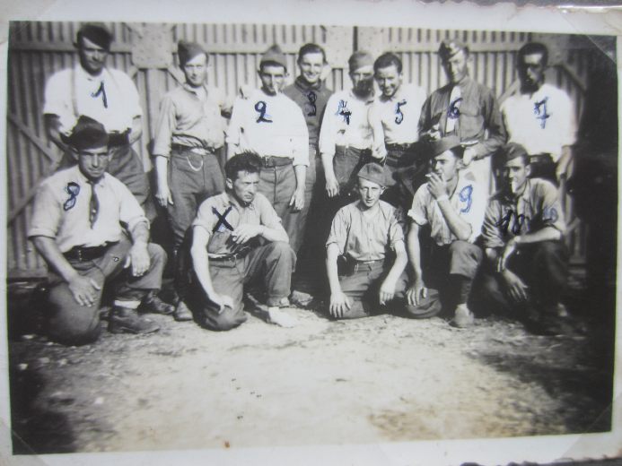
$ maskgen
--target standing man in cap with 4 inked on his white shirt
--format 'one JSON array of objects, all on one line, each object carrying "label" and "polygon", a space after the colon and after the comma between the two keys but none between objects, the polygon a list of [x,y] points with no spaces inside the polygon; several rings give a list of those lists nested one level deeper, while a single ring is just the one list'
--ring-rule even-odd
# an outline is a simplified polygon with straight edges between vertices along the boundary
[{"label": "standing man in cap with 4 inked on his white shirt", "polygon": [[320,154],[331,213],[355,200],[356,173],[372,155],[373,56],[359,50],[348,59],[352,88],[329,99],[320,131]]}]

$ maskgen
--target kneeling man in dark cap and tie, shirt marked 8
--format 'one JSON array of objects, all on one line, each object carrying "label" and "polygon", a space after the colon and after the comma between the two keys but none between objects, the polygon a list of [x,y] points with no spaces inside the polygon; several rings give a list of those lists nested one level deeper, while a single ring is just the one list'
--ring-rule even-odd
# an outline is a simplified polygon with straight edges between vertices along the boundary
[{"label": "kneeling man in dark cap and tie, shirt marked 8", "polygon": [[101,294],[113,279],[110,332],[156,332],[158,325],[137,310],[172,312],[154,295],[166,255],[148,243],[149,221],[136,198],[106,173],[109,141],[101,123],[78,118],[67,137],[77,165],[39,186],[28,231],[50,269],[49,337],[67,345],[98,338]]}]

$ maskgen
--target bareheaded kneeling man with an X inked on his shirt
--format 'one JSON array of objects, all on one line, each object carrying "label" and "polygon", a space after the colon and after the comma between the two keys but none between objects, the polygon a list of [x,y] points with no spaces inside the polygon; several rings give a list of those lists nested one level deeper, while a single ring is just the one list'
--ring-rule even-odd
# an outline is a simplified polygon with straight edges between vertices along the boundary
[{"label": "bareheaded kneeling man with an X inked on his shirt", "polygon": [[287,306],[295,255],[281,219],[259,194],[258,155],[243,152],[224,165],[225,192],[201,204],[192,223],[190,254],[197,279],[199,323],[230,330],[246,321],[244,285],[263,280],[268,320],[292,327]]}]

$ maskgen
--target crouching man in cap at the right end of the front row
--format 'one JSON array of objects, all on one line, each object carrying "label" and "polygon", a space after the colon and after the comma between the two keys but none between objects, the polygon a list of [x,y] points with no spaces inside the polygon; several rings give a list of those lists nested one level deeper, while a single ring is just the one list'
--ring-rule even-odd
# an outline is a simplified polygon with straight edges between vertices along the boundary
[{"label": "crouching man in cap at the right end of the front row", "polygon": [[520,144],[508,143],[503,154],[504,186],[489,201],[482,229],[482,306],[514,315],[536,333],[564,333],[568,253],[558,191],[548,180],[530,179]]}]

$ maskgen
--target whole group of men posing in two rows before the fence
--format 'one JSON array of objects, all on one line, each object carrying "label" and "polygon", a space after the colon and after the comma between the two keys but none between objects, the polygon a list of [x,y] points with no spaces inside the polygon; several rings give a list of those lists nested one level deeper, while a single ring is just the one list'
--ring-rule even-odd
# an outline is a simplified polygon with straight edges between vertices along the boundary
[{"label": "whole group of men posing in two rows before the fence", "polygon": [[111,332],[158,330],[145,313],[232,329],[246,320],[251,283],[267,320],[293,326],[284,310],[293,271],[319,257],[325,268],[309,272],[328,278],[333,318],[445,313],[468,327],[484,303],[536,332],[560,331],[567,259],[556,184],[572,165],[574,110],[544,82],[543,45],[521,48],[521,89],[499,108],[455,39],[439,49],[449,83],[427,98],[403,82],[399,56],[364,51],[348,60],[352,88],[332,93],[324,49],[306,44],[293,84],[270,47],[260,89],[241,89],[232,105],[206,83],[206,49],[180,41],[185,82],[162,98],[152,151],[153,198],[173,232],[170,305],[158,297],[166,255],[149,243],[153,198],[131,147],[142,110],[127,75],[105,66],[111,40],[85,24],[79,63],[45,91],[48,134],[66,155],[39,187],[29,237],[50,268],[55,340],[97,338],[108,283]]}]

